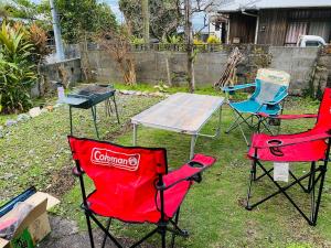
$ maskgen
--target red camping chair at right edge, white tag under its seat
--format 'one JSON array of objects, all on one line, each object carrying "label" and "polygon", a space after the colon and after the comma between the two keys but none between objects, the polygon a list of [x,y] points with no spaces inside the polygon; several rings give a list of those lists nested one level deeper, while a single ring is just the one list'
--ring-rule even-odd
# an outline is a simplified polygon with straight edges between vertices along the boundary
[{"label": "red camping chair at right edge, white tag under its seat", "polygon": [[[317,118],[316,126],[301,133],[295,134],[278,134],[268,136],[265,133],[255,133],[252,138],[252,147],[248,151],[248,158],[253,160],[250,170],[250,181],[247,195],[247,209],[253,209],[267,200],[282,193],[296,209],[303,216],[303,218],[312,226],[316,226],[318,219],[319,207],[321,203],[322,190],[325,179],[325,172],[330,154],[331,144],[331,88],[325,88],[323,99],[320,105],[319,114],[317,115],[280,115],[278,117],[268,116],[268,118],[280,119],[298,119],[301,118]],[[270,172],[274,169],[267,170],[261,161],[273,162],[309,162],[311,163],[310,171],[297,177],[291,171],[289,175],[293,179],[292,182],[286,186],[281,186],[274,181]],[[317,163],[320,163],[319,165]],[[263,174],[256,177],[257,165],[263,170]],[[252,183],[267,175],[276,185],[277,191],[269,196],[250,204]],[[308,186],[303,185],[303,180],[308,180]],[[297,203],[289,196],[287,190],[293,185],[299,184],[303,192],[310,194],[311,197],[311,213],[310,216],[297,205]],[[316,188],[318,191],[316,192]]]}]

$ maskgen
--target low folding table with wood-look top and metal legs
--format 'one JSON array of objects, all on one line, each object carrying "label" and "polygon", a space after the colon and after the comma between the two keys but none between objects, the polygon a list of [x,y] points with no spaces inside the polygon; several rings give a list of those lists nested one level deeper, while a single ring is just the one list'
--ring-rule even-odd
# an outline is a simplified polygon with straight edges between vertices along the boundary
[{"label": "low folding table with wood-look top and metal legs", "polygon": [[[134,145],[137,143],[138,125],[191,136],[190,158],[193,158],[199,136],[214,138],[221,132],[223,97],[177,93],[131,118]],[[201,129],[218,110],[218,125],[215,134],[201,133]]]}]

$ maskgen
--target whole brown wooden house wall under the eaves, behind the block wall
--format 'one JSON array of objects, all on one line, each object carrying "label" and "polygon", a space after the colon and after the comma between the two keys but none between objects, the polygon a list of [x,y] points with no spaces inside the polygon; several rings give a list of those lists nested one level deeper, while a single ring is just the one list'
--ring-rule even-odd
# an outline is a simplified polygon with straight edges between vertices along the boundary
[{"label": "whole brown wooden house wall under the eaves, behind the block wall", "polygon": [[[259,10],[257,44],[295,45],[299,34],[331,39],[331,9],[268,9]],[[229,43],[254,43],[256,18],[229,13]],[[302,33],[303,32],[303,33]]]}]

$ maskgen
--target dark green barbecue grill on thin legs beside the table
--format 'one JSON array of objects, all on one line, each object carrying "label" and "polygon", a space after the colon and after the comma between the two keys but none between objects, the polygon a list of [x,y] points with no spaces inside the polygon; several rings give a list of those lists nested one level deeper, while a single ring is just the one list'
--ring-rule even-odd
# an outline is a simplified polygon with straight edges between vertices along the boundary
[{"label": "dark green barbecue grill on thin legs beside the table", "polygon": [[73,114],[72,108],[89,109],[92,110],[93,122],[96,131],[96,136],[99,139],[99,132],[96,123],[97,109],[96,105],[105,101],[106,116],[110,116],[113,111],[110,100],[114,103],[117,122],[119,123],[119,117],[117,111],[117,105],[115,99],[116,89],[111,85],[89,85],[78,91],[72,93],[61,99],[70,106],[70,123],[71,123],[71,134],[73,134]]}]

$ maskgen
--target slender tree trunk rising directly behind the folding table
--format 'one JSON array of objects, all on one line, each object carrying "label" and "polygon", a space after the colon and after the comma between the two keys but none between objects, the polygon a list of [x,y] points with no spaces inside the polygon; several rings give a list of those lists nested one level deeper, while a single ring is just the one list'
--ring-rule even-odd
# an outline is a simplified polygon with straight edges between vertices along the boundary
[{"label": "slender tree trunk rising directly behind the folding table", "polygon": [[193,93],[195,88],[194,83],[194,67],[193,67],[193,35],[191,21],[191,0],[185,0],[185,42],[188,55],[188,84],[189,91]]}]

